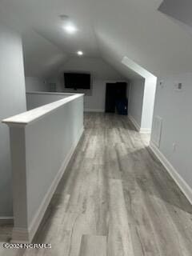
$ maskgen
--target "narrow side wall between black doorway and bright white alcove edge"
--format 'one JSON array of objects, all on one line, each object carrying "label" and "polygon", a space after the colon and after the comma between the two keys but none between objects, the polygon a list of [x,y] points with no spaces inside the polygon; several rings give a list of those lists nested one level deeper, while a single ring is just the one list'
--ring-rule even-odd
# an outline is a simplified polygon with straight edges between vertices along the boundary
[{"label": "narrow side wall between black doorway and bright white alcove edge", "polygon": [[[130,95],[128,114],[134,119],[138,129],[142,126],[142,103],[145,90],[145,79],[134,79],[130,81]],[[133,120],[132,120],[133,121]]]}]

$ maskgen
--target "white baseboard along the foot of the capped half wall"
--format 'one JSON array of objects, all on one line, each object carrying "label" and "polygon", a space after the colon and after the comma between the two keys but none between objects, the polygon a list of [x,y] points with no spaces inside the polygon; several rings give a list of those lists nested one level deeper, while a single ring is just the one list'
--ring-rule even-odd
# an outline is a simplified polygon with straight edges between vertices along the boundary
[{"label": "white baseboard along the foot of the capped half wall", "polygon": [[46,209],[50,204],[50,200],[54,195],[54,191],[56,190],[58,183],[60,182],[62,175],[66,170],[66,166],[69,164],[70,158],[74,154],[74,150],[76,149],[76,146],[78,145],[78,142],[82,137],[83,131],[84,131],[84,127],[82,127],[82,130],[80,131],[76,142],[71,147],[70,152],[67,154],[66,158],[64,159],[60,170],[58,170],[58,174],[55,176],[54,181],[50,186],[50,189],[47,191],[44,199],[42,200],[42,204],[39,206],[37,213],[34,215],[34,218],[30,223],[29,229],[21,229],[21,228],[14,227],[11,242],[31,242],[32,239],[34,238],[34,234],[38,230],[38,226],[41,223],[42,218],[46,212]]}]

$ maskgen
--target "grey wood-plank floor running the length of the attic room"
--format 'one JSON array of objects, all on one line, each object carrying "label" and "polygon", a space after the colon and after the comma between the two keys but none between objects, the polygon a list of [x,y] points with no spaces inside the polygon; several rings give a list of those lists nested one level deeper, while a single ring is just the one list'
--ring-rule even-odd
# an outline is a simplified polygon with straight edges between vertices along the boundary
[{"label": "grey wood-plank floor running the length of the attic room", "polygon": [[34,242],[52,249],[25,256],[191,256],[192,206],[126,117],[85,114]]}]

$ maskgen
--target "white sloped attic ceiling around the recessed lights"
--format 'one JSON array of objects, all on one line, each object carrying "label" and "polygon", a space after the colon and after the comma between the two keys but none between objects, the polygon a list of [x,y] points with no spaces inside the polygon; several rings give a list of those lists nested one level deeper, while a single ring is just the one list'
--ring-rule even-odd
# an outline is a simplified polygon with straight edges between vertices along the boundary
[{"label": "white sloped attic ceiling around the recessed lights", "polygon": [[[6,22],[17,20],[22,30],[30,75],[54,73],[77,50],[86,57],[105,59],[126,78],[139,76],[123,66],[124,56],[156,76],[192,71],[192,35],[157,10],[161,2],[1,0],[0,14]],[[77,34],[62,30],[60,14],[70,16]]]}]

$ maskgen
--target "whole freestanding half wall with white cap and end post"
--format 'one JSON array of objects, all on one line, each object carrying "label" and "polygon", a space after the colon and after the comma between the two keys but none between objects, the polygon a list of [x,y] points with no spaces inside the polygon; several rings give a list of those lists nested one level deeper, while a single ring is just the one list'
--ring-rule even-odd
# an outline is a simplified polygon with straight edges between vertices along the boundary
[{"label": "whole freestanding half wall with white cap and end post", "polygon": [[70,95],[4,122],[10,126],[13,166],[12,239],[31,242],[82,136],[83,95]]}]

